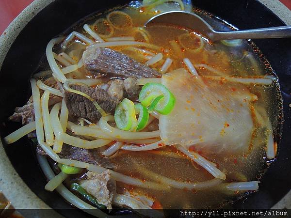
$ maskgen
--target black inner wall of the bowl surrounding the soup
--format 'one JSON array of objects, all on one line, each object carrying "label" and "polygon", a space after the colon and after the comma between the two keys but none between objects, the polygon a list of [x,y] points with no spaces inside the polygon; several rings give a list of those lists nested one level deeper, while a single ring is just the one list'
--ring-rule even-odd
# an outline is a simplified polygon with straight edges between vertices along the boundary
[{"label": "black inner wall of the bowl surrounding the soup", "polygon": [[[31,90],[29,78],[47,43],[75,22],[96,11],[127,3],[126,0],[55,0],[37,13],[11,45],[0,70],[0,135],[8,135],[20,124],[8,122],[15,107],[26,103]],[[239,29],[285,25],[257,0],[195,0],[194,6],[221,17]],[[235,208],[271,208],[291,189],[291,40],[258,39],[253,41],[277,74],[284,99],[284,125],[279,155],[261,179],[259,191],[236,202]],[[30,142],[23,138],[13,145],[3,143],[7,156],[23,181],[54,209],[71,208],[56,192],[44,189],[46,178],[40,170]],[[85,217],[81,210],[62,210],[65,217]]]}]

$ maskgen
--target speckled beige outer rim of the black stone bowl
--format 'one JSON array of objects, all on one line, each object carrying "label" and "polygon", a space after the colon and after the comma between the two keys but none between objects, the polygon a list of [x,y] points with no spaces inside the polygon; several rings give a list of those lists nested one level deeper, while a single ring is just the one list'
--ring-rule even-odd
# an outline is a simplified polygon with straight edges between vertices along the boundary
[{"label": "speckled beige outer rim of the black stone bowl", "polygon": [[[18,36],[19,32],[27,25],[27,23],[54,0],[34,0],[27,8],[25,8],[9,25],[9,27],[0,36],[0,67],[5,56]],[[279,0],[259,0],[271,9],[279,18],[287,25],[291,25],[291,11],[284,6]],[[0,189],[16,208],[49,208],[41,199],[39,199],[32,190],[23,182],[20,176],[13,168],[8,159],[0,141],[0,170],[2,182]],[[3,176],[5,174],[5,177]],[[13,181],[13,182],[11,182]],[[11,188],[13,184],[14,188]],[[15,188],[18,187],[18,188]],[[274,208],[291,208],[291,191],[280,201]]]}]

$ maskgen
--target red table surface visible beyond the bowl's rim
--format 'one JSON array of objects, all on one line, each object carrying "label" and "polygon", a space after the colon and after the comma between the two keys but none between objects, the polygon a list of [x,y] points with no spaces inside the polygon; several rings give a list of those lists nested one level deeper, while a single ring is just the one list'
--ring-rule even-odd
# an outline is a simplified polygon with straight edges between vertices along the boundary
[{"label": "red table surface visible beyond the bowl's rim", "polygon": [[[0,0],[0,34],[33,0]],[[280,0],[291,10],[291,0]]]}]

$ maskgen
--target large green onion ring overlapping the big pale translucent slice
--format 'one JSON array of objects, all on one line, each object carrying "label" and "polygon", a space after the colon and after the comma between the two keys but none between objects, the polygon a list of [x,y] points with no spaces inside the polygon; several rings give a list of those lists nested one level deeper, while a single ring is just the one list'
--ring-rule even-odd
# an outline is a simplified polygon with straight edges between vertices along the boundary
[{"label": "large green onion ring overlapping the big pale translucent slice", "polygon": [[[159,96],[162,98],[158,98]],[[139,100],[145,107],[150,106],[150,109],[154,107],[154,110],[159,113],[166,115],[169,114],[175,106],[175,96],[162,84],[160,83],[146,83],[143,86],[142,91],[139,94]],[[156,103],[156,101],[158,101]],[[155,102],[154,102],[155,101]]]}]

